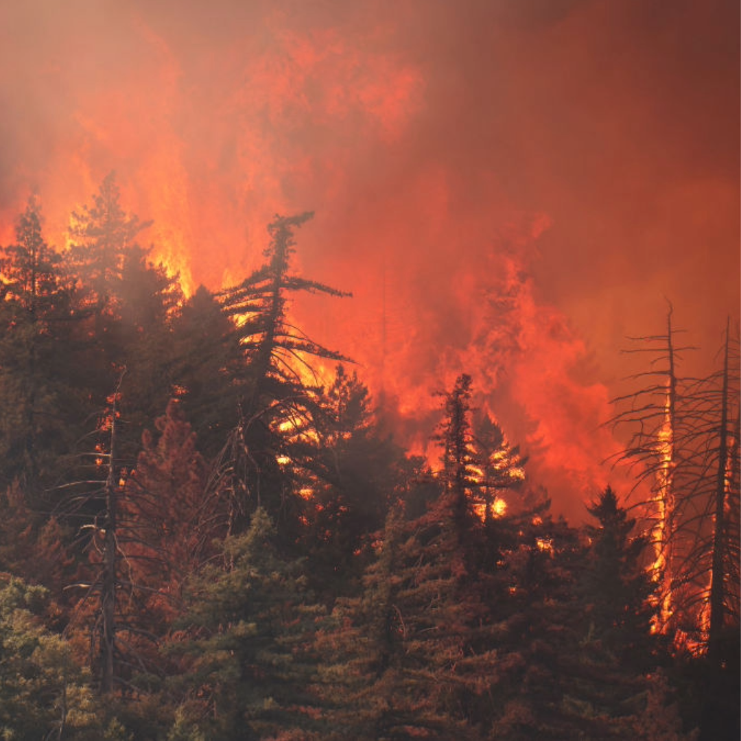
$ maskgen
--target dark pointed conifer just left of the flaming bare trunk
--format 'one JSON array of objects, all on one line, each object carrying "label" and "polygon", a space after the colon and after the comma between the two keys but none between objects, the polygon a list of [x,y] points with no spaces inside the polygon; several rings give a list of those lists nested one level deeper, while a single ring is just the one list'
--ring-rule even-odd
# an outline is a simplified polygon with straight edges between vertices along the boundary
[{"label": "dark pointed conifer just left of the flaming bare trunk", "polygon": [[648,675],[666,659],[652,631],[657,584],[643,568],[648,538],[606,488],[588,511],[585,568],[576,588],[576,644],[562,677],[564,720],[600,738],[628,738],[646,710]]}]

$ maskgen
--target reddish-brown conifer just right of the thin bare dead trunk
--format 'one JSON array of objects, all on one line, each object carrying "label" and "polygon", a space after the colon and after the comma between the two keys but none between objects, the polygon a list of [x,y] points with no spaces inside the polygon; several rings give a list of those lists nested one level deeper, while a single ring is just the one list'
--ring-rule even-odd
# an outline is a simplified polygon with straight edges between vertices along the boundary
[{"label": "reddish-brown conifer just right of the thin bare dead trunk", "polygon": [[116,522],[119,589],[126,595],[117,602],[118,642],[122,654],[136,658],[140,685],[163,674],[159,645],[182,614],[186,580],[216,555],[213,539],[224,536],[226,519],[178,402],[170,401],[155,427],[156,440],[144,433]]}]

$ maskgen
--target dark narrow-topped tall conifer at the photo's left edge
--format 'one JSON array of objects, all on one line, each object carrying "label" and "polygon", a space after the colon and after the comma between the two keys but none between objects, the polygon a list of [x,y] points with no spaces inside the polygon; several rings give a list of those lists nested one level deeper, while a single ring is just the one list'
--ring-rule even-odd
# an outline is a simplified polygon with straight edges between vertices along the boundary
[{"label": "dark narrow-topped tall conifer at the photo's left edge", "polygon": [[29,199],[0,273],[0,486],[19,478],[39,504],[79,427],[73,421],[67,341],[72,313],[61,259],[41,233]]}]

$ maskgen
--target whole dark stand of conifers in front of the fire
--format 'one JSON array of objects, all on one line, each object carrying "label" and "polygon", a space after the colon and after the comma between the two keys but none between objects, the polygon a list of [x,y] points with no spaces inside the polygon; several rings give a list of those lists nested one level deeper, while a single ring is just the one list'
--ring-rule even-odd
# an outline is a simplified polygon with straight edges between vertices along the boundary
[{"label": "whole dark stand of conifers in front of the fire", "polygon": [[736,739],[730,332],[681,381],[671,324],[643,338],[668,365],[617,422],[653,494],[607,488],[574,528],[469,376],[439,467],[382,431],[290,323],[302,291],[346,295],[291,270],[309,218],[188,299],[113,176],[66,250],[36,199],[0,247],[0,737]]}]

